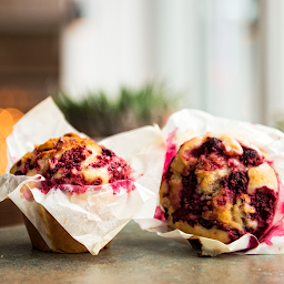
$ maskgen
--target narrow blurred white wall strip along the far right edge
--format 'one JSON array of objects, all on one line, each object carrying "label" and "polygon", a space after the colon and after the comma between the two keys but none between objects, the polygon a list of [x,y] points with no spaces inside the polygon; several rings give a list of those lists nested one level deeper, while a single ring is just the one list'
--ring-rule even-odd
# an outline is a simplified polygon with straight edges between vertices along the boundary
[{"label": "narrow blurred white wall strip along the far right edge", "polygon": [[262,3],[263,122],[273,125],[275,114],[284,118],[284,1]]}]

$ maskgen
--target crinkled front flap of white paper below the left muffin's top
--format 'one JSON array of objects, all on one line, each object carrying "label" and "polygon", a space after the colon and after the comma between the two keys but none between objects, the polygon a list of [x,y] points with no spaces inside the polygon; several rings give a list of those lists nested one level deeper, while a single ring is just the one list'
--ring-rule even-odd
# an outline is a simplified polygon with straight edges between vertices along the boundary
[{"label": "crinkled front flap of white paper below the left muffin's top", "polygon": [[[22,176],[12,178],[21,180]],[[57,247],[53,246],[52,240],[48,236],[49,232],[43,220],[39,217],[39,204],[74,240],[83,244],[91,254],[98,255],[100,250],[153,197],[151,191],[134,182],[131,185],[134,185],[135,190],[129,192],[124,186],[121,186],[116,194],[113,194],[111,184],[87,186],[87,191],[79,194],[80,196],[75,193],[63,193],[57,189],[51,189],[48,194],[44,194],[40,190],[39,182],[41,180],[44,180],[41,175],[24,180],[9,194],[9,197],[37,227],[51,250],[57,250]],[[23,187],[23,185],[27,186]],[[68,186],[72,190],[72,185]],[[97,210],[97,205],[102,203],[102,200],[104,200],[103,206]],[[85,224],[80,222],[82,219],[85,220]]]}]

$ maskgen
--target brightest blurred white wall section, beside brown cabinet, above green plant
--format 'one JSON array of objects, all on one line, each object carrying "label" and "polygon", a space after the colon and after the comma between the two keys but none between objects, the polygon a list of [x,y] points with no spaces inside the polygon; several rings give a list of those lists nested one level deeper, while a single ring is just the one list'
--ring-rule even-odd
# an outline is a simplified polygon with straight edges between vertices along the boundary
[{"label": "brightest blurred white wall section, beside brown cabinet, above green plant", "polygon": [[[73,97],[87,90],[115,93],[152,79],[151,18],[145,0],[84,0],[85,18],[63,31],[61,85]],[[149,21],[150,19],[150,21]]]}]

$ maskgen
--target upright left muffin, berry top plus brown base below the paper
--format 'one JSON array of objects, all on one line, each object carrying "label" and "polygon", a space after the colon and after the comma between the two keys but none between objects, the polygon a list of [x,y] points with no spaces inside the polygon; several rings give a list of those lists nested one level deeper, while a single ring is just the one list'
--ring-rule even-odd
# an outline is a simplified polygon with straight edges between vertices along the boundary
[{"label": "upright left muffin, berry top plus brown base below the paper", "polygon": [[[82,139],[73,133],[36,145],[32,152],[13,164],[10,172],[28,176],[41,174],[45,180],[41,182],[39,190],[44,194],[51,189],[80,194],[88,190],[88,185],[109,183],[115,194],[119,183],[133,180],[133,171],[123,159],[91,139]],[[67,186],[70,184],[73,186]],[[87,247],[75,241],[41,204],[38,204],[38,214],[53,248],[47,245],[38,230],[24,216],[34,247],[59,253],[88,252]]]}]

